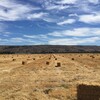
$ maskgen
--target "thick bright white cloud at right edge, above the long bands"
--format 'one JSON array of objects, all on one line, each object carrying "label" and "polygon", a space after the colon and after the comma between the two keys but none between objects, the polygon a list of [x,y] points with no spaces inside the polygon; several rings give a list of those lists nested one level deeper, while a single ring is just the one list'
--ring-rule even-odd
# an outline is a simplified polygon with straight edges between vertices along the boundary
[{"label": "thick bright white cloud at right edge, above the long bands", "polygon": [[100,23],[100,14],[96,15],[81,15],[79,16],[79,21],[84,23]]}]

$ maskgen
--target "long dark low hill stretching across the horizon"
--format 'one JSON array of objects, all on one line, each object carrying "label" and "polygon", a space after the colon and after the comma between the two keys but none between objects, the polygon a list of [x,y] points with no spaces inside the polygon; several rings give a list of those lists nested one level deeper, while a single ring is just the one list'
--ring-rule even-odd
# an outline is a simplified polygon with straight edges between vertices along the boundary
[{"label": "long dark low hill stretching across the horizon", "polygon": [[17,53],[100,53],[100,46],[64,46],[64,45],[34,45],[34,46],[0,46],[0,54]]}]

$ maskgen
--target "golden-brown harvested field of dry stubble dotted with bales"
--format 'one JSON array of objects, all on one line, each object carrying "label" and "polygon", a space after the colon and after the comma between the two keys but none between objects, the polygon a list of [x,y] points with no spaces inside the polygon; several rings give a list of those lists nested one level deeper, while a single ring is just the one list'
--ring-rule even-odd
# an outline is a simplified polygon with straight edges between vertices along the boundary
[{"label": "golden-brown harvested field of dry stubble dotted with bales", "polygon": [[77,100],[79,84],[100,85],[100,54],[0,55],[0,100]]}]

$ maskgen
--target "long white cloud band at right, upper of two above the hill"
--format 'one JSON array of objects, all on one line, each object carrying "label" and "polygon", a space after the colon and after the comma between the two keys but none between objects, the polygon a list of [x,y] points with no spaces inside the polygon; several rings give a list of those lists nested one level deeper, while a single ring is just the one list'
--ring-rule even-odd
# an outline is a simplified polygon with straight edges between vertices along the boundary
[{"label": "long white cloud band at right, upper of two above the hill", "polygon": [[75,28],[72,30],[56,31],[48,33],[50,36],[65,37],[65,36],[100,36],[100,28]]}]

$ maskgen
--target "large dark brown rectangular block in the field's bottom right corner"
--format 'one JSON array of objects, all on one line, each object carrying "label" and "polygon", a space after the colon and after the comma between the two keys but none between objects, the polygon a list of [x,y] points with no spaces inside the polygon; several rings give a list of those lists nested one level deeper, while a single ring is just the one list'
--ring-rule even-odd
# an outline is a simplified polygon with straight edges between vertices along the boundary
[{"label": "large dark brown rectangular block in the field's bottom right corner", "polygon": [[100,86],[86,84],[78,85],[77,100],[100,100]]}]

